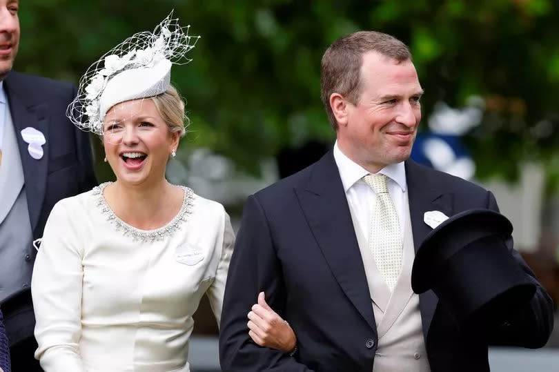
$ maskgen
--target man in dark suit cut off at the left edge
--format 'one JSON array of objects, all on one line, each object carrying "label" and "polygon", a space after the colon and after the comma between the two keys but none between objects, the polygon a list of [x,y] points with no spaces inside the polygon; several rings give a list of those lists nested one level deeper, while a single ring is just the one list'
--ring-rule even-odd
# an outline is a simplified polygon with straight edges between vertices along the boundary
[{"label": "man in dark suit cut off at the left edge", "polygon": [[14,371],[34,358],[30,282],[35,248],[52,206],[97,183],[87,133],[66,118],[70,84],[12,72],[18,1],[0,0],[0,304]]}]

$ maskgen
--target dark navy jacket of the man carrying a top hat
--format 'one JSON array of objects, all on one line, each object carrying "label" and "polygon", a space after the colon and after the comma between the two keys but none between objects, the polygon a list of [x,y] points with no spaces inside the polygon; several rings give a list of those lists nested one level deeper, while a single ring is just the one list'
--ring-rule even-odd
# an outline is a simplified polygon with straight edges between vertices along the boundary
[{"label": "dark navy jacket of the man carrying a top hat", "polygon": [[[470,208],[498,210],[493,195],[463,179],[406,161],[413,240],[431,231],[426,211],[451,216]],[[487,345],[539,347],[553,326],[549,296],[538,286],[508,322],[480,333],[458,330],[432,291],[420,295],[432,371],[489,371]],[[246,314],[259,291],[293,327],[298,351],[290,357],[251,342]],[[371,372],[378,342],[371,295],[342,180],[330,151],[300,173],[248,197],[229,267],[219,353],[229,371]]]}]

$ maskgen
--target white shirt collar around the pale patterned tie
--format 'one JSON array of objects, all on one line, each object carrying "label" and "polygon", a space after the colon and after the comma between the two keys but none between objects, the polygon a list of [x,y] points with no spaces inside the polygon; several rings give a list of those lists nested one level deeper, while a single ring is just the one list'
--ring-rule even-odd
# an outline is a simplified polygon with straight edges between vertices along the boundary
[{"label": "white shirt collar around the pale patterned tie", "polygon": [[[369,175],[369,171],[355,163],[355,161],[346,157],[340,147],[337,146],[337,141],[334,144],[334,159],[336,161],[337,169],[340,172],[340,177],[342,178],[342,184],[344,185],[344,191],[347,190],[355,184],[355,182],[360,181],[366,175]],[[378,173],[389,177],[393,180],[402,191],[406,191],[406,168],[404,166],[404,161],[400,163],[389,164],[382,168]]]}]

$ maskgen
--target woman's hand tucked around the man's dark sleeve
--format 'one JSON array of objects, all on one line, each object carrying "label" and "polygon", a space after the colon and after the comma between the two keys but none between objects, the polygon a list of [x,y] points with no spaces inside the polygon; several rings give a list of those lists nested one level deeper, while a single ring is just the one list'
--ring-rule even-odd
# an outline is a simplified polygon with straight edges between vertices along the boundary
[{"label": "woman's hand tucked around the man's dark sleeve", "polygon": [[266,304],[264,292],[258,294],[258,303],[248,313],[248,330],[248,335],[259,346],[291,353],[297,345],[293,329]]}]

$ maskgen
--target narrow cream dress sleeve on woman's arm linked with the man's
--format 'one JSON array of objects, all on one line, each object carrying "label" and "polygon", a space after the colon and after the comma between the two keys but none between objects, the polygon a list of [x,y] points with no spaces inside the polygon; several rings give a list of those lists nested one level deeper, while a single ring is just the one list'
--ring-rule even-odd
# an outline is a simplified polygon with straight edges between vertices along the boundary
[{"label": "narrow cream dress sleeve on woman's arm linked with the man's", "polygon": [[212,307],[213,314],[215,315],[215,320],[217,324],[221,320],[222,307],[223,307],[223,297],[225,292],[225,282],[227,280],[227,272],[229,270],[229,261],[231,261],[231,255],[233,254],[233,245],[235,244],[235,233],[233,232],[233,227],[231,226],[231,220],[229,215],[224,213],[224,226],[221,240],[220,250],[221,254],[219,257],[219,263],[217,264],[217,271],[215,273],[215,279],[213,283],[206,291],[208,299],[210,300],[210,306]]}]

